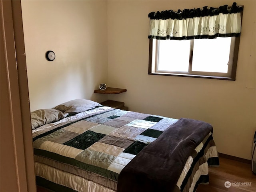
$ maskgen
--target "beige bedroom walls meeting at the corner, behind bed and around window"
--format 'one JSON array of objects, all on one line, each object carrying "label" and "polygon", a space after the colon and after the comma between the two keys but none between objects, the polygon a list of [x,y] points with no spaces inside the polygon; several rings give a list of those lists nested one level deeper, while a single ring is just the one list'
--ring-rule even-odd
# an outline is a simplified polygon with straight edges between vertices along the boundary
[{"label": "beige bedroom walls meeting at the corner, behind bed and around window", "polygon": [[[129,110],[209,122],[219,152],[250,159],[256,130],[255,1],[236,1],[244,5],[236,81],[147,74],[149,12],[232,2],[22,0],[31,110],[75,98],[124,101]],[[47,50],[56,53],[53,62],[45,59]],[[94,94],[102,82],[128,91]]]}]

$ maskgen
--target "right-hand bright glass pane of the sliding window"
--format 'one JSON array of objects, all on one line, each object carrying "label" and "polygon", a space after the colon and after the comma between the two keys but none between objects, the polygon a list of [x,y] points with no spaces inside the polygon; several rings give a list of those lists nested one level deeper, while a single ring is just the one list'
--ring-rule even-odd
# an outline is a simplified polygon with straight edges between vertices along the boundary
[{"label": "right-hand bright glass pane of the sliding window", "polygon": [[195,39],[192,71],[228,72],[231,37]]}]

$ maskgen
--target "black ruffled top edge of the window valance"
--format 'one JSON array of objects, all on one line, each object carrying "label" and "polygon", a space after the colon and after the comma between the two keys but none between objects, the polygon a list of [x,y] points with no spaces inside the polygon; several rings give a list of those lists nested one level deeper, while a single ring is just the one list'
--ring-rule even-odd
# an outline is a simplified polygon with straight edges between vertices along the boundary
[{"label": "black ruffled top edge of the window valance", "polygon": [[220,13],[222,14],[231,14],[231,13],[238,13],[243,11],[243,6],[236,6],[234,2],[230,9],[228,9],[228,5],[220,6],[219,8],[210,7],[209,9],[207,6],[204,6],[202,10],[200,8],[197,9],[184,9],[178,10],[174,12],[173,10],[166,10],[161,12],[151,12],[148,14],[150,19],[186,19],[186,18],[194,18],[194,17],[204,17],[204,16],[214,16]]}]

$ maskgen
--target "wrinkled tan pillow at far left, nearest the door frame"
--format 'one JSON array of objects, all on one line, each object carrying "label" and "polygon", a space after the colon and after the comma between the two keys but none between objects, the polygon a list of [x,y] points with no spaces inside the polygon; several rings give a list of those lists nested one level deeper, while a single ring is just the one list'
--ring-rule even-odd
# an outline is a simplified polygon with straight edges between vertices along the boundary
[{"label": "wrinkled tan pillow at far left, nearest the door frame", "polygon": [[32,130],[42,125],[56,122],[65,115],[56,109],[38,109],[30,113]]}]

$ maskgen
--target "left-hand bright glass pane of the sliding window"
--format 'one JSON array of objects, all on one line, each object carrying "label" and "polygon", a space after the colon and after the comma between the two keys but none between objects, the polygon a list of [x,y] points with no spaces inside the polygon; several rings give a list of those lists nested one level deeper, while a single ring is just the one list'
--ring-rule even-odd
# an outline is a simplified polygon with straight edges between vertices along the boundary
[{"label": "left-hand bright glass pane of the sliding window", "polygon": [[190,40],[158,40],[158,71],[188,72]]}]

